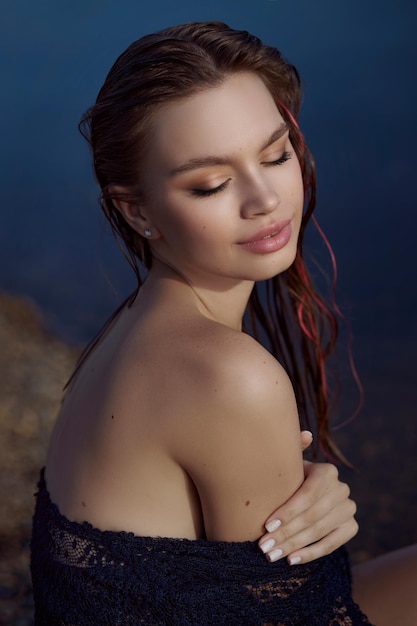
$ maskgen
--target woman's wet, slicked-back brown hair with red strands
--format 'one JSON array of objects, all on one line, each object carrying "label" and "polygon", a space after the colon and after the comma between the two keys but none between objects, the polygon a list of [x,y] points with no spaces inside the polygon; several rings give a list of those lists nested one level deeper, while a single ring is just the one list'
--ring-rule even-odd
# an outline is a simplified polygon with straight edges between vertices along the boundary
[{"label": "woman's wet, slicked-back brown hair with red strands", "polygon": [[[135,201],[143,194],[141,162],[152,141],[153,117],[164,104],[219,86],[237,72],[256,74],[274,98],[289,127],[305,191],[295,262],[255,287],[245,330],[261,340],[287,369],[301,426],[316,432],[327,458],[343,462],[329,429],[325,373],[325,360],[336,341],[337,316],[314,289],[303,260],[304,232],[315,206],[315,172],[297,124],[300,78],[276,48],[247,31],[220,22],[192,22],[142,37],[116,60],[95,105],[83,116],[80,130],[91,145],[101,206],[135,271],[138,286],[87,347],[79,365],[123,306],[134,301],[144,269],[146,274],[152,265],[149,242],[125,221],[114,200]],[[125,192],[116,196],[116,186]]]}]

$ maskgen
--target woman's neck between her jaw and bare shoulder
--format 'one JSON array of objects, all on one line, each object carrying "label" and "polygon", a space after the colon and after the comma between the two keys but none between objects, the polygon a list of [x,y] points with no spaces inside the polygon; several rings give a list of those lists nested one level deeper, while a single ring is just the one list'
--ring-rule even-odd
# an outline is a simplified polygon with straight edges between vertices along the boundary
[{"label": "woman's neck between her jaw and bare shoulder", "polygon": [[[154,259],[141,293],[156,294],[160,289],[182,290],[184,297],[194,302],[200,313],[220,324],[242,329],[242,319],[254,283],[230,281],[227,285],[213,285],[203,280],[190,280],[165,263]],[[217,288],[216,288],[217,287]]]}]

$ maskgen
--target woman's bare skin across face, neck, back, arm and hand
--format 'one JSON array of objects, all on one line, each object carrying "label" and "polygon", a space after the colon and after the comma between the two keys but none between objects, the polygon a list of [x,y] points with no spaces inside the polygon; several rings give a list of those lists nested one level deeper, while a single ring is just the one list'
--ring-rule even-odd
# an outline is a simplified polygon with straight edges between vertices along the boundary
[{"label": "woman's bare skin across face, neck, back, arm and hand", "polygon": [[[356,532],[354,505],[332,466],[303,464],[288,376],[241,332],[254,282],[294,260],[303,206],[263,83],[236,74],[161,109],[141,175],[141,202],[118,208],[151,231],[152,270],[67,392],[46,464],[52,500],[102,529],[322,556]],[[282,221],[279,249],[244,245]]]}]

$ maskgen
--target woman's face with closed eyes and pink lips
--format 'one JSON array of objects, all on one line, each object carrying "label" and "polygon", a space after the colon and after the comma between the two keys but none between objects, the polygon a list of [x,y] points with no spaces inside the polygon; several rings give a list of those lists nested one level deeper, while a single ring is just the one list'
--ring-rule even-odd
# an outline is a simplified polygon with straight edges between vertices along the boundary
[{"label": "woman's face with closed eyes and pink lips", "polygon": [[141,168],[154,256],[224,289],[293,262],[303,182],[288,130],[254,74],[161,108]]}]

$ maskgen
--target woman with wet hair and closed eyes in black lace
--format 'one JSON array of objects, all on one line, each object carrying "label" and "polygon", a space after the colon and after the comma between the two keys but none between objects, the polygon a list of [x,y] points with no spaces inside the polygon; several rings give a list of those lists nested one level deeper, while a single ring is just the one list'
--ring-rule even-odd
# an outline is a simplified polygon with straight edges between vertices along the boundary
[{"label": "woman with wet hair and closed eyes in black lace", "polygon": [[[275,49],[203,23],[132,44],[87,113],[102,206],[140,289],[82,357],[51,439],[37,623],[368,623],[344,553],[311,561],[352,531],[346,493],[304,516],[294,496],[292,385],[302,423],[314,412],[340,458],[324,375],[335,322],[302,260],[314,175],[298,108]],[[248,302],[253,335],[287,371],[242,332]],[[280,535],[269,513],[286,502]],[[305,527],[311,511],[321,532]],[[366,576],[361,589],[365,606]]]}]

